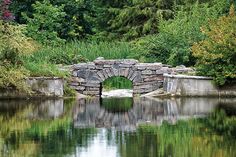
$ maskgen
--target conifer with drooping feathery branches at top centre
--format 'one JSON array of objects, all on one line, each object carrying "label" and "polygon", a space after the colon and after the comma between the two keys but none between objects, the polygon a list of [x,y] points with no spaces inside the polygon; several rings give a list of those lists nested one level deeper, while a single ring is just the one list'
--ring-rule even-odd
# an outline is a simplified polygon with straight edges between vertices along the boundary
[{"label": "conifer with drooping feathery branches at top centre", "polygon": [[130,40],[157,33],[160,19],[172,17],[173,4],[172,0],[126,0],[119,3],[115,0],[113,3],[102,1],[100,5],[103,7],[98,12],[101,20],[99,17],[97,20],[100,28],[105,25],[103,30],[112,38]]}]

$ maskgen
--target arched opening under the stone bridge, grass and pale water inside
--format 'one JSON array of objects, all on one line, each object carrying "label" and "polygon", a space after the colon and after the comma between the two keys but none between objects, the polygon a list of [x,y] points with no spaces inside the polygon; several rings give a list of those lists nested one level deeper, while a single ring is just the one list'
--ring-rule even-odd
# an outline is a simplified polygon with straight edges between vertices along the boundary
[{"label": "arched opening under the stone bridge, grass and pale water inside", "polygon": [[100,84],[100,95],[102,97],[132,97],[133,83],[123,76],[107,78]]}]

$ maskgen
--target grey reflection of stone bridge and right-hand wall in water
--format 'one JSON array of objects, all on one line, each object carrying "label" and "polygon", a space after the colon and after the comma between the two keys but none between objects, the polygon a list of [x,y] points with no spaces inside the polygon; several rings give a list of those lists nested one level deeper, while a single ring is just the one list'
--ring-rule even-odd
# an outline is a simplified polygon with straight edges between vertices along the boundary
[{"label": "grey reflection of stone bridge and right-hand wall in water", "polygon": [[[180,119],[203,117],[221,103],[227,102],[227,99],[216,98],[120,98],[123,101],[117,99],[115,101],[99,98],[80,100],[73,109],[74,126],[114,127],[117,130],[132,131],[143,123],[161,125],[163,121],[167,121],[174,124]],[[232,102],[232,99],[230,101]],[[112,109],[107,107],[109,102],[111,103],[109,105],[113,106]],[[117,106],[117,112],[114,111],[114,106]]]}]

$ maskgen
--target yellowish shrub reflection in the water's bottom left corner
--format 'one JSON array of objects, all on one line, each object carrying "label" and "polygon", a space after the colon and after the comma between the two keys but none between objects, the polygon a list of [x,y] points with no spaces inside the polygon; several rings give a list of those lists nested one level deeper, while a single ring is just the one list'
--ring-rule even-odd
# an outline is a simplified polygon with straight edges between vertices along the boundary
[{"label": "yellowish shrub reflection in the water's bottom left corner", "polygon": [[[31,141],[25,144],[19,144],[21,141],[24,141],[21,134],[31,126],[30,121],[25,119],[28,112],[32,112],[31,107],[18,110],[18,112],[11,116],[0,116],[0,152],[3,156],[27,157],[36,154],[37,144]],[[12,141],[12,137],[17,137],[17,141]],[[11,142],[17,143],[17,145],[11,145]],[[29,146],[31,149],[29,149]]]}]

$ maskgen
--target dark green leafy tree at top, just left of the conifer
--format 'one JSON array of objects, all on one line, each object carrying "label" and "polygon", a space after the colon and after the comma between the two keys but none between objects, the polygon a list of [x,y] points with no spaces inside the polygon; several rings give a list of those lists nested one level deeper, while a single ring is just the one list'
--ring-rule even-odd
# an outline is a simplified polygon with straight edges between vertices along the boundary
[{"label": "dark green leafy tree at top, just left of the conifer", "polygon": [[93,0],[50,0],[55,6],[64,6],[65,18],[60,37],[67,40],[83,39],[92,32]]}]

